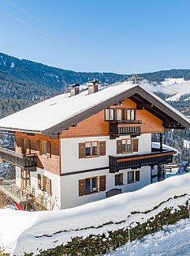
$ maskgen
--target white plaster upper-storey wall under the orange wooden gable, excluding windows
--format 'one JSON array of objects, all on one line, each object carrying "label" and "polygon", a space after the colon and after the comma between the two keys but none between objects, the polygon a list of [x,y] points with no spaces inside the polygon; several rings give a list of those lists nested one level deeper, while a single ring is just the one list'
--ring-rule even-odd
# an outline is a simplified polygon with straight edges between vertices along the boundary
[{"label": "white plaster upper-storey wall under the orange wooden gable, excluding windows", "polygon": [[[130,136],[121,136],[117,139],[125,139]],[[139,151],[137,153],[151,152],[151,134],[142,134],[139,138]],[[72,171],[102,168],[109,165],[108,156],[119,156],[117,154],[117,139],[110,140],[110,136],[104,137],[78,137],[61,139],[61,173]],[[85,141],[106,141],[106,156],[79,158],[79,143]],[[130,156],[133,153],[122,154]]]}]

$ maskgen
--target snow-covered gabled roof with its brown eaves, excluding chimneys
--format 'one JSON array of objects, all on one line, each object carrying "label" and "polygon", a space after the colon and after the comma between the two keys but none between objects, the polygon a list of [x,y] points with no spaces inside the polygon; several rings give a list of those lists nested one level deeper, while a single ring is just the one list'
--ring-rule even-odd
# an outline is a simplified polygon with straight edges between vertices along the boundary
[{"label": "snow-covered gabled roof with its brown eaves, excluding chimneys", "polygon": [[190,122],[184,115],[154,93],[140,85],[124,82],[90,95],[84,91],[72,97],[70,93],[55,96],[1,119],[0,130],[20,130],[48,136],[58,134],[125,98],[136,102],[137,109],[144,107],[158,116],[167,128],[190,128]]}]

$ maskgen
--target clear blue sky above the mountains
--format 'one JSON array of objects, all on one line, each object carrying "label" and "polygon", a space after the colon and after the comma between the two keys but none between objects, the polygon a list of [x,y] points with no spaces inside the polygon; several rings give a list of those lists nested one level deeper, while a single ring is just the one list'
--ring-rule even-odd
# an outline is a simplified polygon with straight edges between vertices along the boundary
[{"label": "clear blue sky above the mountains", "polygon": [[189,0],[0,0],[0,51],[65,70],[190,68]]}]

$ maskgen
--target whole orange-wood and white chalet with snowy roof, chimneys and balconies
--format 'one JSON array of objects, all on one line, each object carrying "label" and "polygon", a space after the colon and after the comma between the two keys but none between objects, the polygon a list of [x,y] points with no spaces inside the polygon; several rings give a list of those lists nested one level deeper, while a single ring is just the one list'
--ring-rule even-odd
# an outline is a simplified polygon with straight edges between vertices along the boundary
[{"label": "whole orange-wood and white chalet with snowy roof, chimneys and balconies", "polygon": [[[0,189],[23,204],[44,195],[48,209],[139,190],[164,179],[173,160],[162,134],[185,128],[184,115],[140,85],[76,86],[0,120],[15,138],[14,149],[0,148],[0,156],[16,167],[16,184],[1,179]],[[152,134],[160,134],[157,149]]]}]

